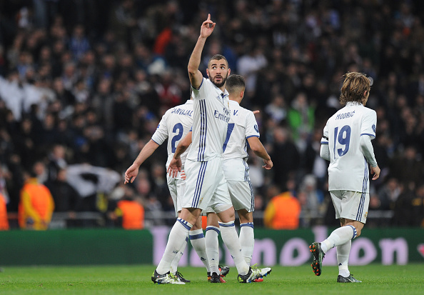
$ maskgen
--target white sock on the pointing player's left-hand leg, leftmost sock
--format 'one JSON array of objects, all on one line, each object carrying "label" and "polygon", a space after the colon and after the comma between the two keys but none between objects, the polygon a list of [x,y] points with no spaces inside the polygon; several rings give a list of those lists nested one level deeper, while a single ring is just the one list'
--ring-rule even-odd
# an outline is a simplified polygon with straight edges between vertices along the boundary
[{"label": "white sock on the pointing player's left-hand leg, leftmost sock", "polygon": [[186,243],[188,231],[192,227],[193,226],[184,219],[177,219],[169,233],[168,243],[166,244],[162,259],[159,262],[158,267],[156,267],[156,272],[158,274],[166,274],[168,271],[171,271],[171,263],[173,259],[175,259],[176,254],[179,253],[183,244]]}]

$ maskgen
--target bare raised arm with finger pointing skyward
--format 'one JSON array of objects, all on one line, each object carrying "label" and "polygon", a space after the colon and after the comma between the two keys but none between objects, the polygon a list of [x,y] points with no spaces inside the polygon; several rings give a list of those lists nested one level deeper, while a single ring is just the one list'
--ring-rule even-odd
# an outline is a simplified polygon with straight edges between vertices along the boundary
[{"label": "bare raised arm with finger pointing skyward", "polygon": [[211,21],[211,14],[208,14],[208,19],[203,21],[201,34],[197,39],[196,46],[194,46],[190,60],[188,61],[188,78],[194,89],[198,89],[203,81],[203,75],[201,71],[198,70],[198,66],[200,66],[201,63],[203,46],[205,46],[206,39],[208,39],[208,36],[211,36],[214,28],[215,23]]}]

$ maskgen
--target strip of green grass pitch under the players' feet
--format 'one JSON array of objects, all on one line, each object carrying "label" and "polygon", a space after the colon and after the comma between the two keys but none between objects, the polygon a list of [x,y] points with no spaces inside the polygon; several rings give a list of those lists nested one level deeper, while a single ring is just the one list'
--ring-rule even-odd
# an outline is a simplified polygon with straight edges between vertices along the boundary
[{"label": "strip of green grass pitch under the players' feet", "polygon": [[350,266],[362,284],[337,284],[336,266],[314,276],[311,266],[275,266],[262,283],[240,284],[231,268],[227,284],[210,284],[206,270],[181,267],[191,283],[153,284],[154,266],[4,266],[0,294],[424,294],[424,264]]}]

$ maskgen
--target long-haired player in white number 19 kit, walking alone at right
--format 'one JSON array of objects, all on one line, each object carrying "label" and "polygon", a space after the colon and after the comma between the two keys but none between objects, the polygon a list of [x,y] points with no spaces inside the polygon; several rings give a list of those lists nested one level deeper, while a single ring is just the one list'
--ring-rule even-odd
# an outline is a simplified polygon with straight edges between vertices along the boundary
[{"label": "long-haired player in white number 19 kit, walking alone at right", "polygon": [[[368,214],[369,176],[380,176],[371,140],[375,138],[377,115],[365,107],[372,79],[364,74],[345,74],[340,90],[340,103],[345,105],[328,119],[321,139],[320,156],[330,161],[328,190],[340,228],[324,241],[309,246],[312,268],[320,276],[325,253],[337,247],[338,283],[360,283],[348,269],[351,240],[360,236]],[[370,169],[368,168],[370,165]]]}]

